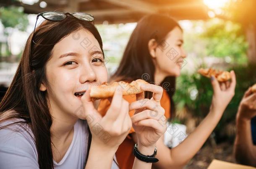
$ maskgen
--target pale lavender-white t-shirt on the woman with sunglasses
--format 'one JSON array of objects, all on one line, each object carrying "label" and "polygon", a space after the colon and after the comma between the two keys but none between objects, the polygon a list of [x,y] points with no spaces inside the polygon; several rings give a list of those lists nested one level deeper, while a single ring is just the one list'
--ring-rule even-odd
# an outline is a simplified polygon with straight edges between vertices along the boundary
[{"label": "pale lavender-white t-shirt on the woman with sunglasses", "polygon": [[[9,124],[6,121],[0,126]],[[55,162],[55,169],[84,169],[88,146],[88,125],[85,120],[78,120],[74,125],[74,135],[68,151],[60,162]],[[13,131],[18,129],[20,131]],[[30,131],[30,133],[32,133]],[[32,135],[33,136],[33,135]],[[1,169],[38,169],[37,149],[31,136],[20,126],[11,125],[0,129],[0,168]],[[119,169],[112,162],[111,169]]]}]

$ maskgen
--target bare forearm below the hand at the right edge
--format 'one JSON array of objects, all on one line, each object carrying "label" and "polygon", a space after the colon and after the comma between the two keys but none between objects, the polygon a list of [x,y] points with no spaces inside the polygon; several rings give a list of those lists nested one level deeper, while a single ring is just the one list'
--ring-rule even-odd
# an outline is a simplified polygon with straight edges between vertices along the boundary
[{"label": "bare forearm below the hand at the right edge", "polygon": [[241,164],[256,166],[256,146],[251,136],[251,121],[238,118],[235,138],[235,159]]}]

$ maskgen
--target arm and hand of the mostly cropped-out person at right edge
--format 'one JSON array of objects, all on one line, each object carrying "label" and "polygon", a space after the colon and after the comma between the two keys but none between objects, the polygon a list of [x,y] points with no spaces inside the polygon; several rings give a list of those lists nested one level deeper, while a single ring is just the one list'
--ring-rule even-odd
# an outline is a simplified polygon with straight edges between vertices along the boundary
[{"label": "arm and hand of the mostly cropped-out person at right edge", "polygon": [[249,88],[240,102],[236,116],[237,134],[234,153],[241,164],[256,166],[256,146],[251,136],[251,119],[256,116],[256,93]]}]

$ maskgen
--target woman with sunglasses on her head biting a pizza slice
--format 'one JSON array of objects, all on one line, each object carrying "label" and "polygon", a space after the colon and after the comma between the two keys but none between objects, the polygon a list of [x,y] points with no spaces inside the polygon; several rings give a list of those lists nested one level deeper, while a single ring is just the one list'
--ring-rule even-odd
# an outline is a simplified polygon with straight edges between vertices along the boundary
[{"label": "woman with sunglasses on her head biting a pizza slice", "polygon": [[[60,12],[39,16],[46,20],[29,36],[0,103],[0,168],[118,168],[115,151],[132,122],[121,91],[115,91],[104,117],[96,109],[99,101],[91,101],[90,87],[107,81],[102,39],[91,24],[93,16]],[[157,92],[160,97],[161,90]],[[151,124],[150,138],[141,134],[135,148],[142,155],[155,149],[166,129],[157,121]],[[151,166],[136,159],[133,168]]]}]

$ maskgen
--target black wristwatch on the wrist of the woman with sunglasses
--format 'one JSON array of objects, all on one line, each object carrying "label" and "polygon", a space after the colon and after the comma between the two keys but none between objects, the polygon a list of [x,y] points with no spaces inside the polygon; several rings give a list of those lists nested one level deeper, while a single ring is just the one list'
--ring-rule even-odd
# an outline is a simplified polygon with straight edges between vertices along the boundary
[{"label": "black wristwatch on the wrist of the woman with sunglasses", "polygon": [[157,155],[157,147],[155,148],[154,154],[152,154],[151,156],[146,156],[138,151],[138,145],[135,144],[133,147],[133,155],[136,156],[137,159],[147,163],[156,163],[159,161],[157,158],[155,158],[155,156]]}]

